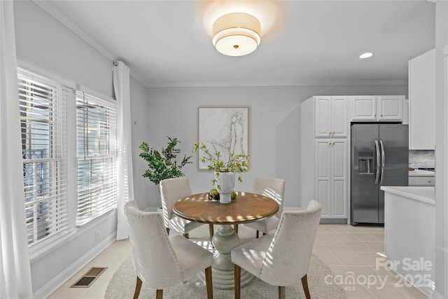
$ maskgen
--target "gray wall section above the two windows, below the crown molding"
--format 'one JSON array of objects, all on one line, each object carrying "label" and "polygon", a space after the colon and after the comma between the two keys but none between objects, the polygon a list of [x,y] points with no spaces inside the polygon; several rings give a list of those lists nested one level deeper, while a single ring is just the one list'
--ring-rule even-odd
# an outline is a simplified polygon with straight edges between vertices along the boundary
[{"label": "gray wall section above the two windows, below the crown molding", "polygon": [[110,60],[32,1],[14,1],[14,18],[20,59],[112,98]]}]

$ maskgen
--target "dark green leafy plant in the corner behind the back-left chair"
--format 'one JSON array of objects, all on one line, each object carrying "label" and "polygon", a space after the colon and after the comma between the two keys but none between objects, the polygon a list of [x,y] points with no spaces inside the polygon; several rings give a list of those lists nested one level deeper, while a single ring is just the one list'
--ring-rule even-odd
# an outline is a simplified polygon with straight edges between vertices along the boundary
[{"label": "dark green leafy plant in the corner behind the back-left chair", "polygon": [[[183,155],[183,159],[178,162],[177,155],[181,153],[179,148],[176,148],[181,141],[177,138],[170,138],[166,148],[162,148],[162,151],[157,151],[154,148],[149,148],[146,142],[142,142],[139,148],[141,149],[140,157],[148,162],[148,169],[142,175],[148,178],[159,187],[160,181],[164,179],[172,179],[179,176],[183,176],[181,171],[182,167],[190,164],[191,155]],[[160,188],[159,188],[160,193]]]}]

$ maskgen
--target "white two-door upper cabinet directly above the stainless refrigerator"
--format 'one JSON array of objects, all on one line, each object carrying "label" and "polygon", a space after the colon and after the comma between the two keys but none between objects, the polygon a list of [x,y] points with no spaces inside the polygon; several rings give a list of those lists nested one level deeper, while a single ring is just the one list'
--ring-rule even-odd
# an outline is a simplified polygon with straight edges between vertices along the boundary
[{"label": "white two-door upper cabinet directly above the stainless refrigerator", "polygon": [[402,95],[351,97],[353,121],[401,121],[403,118]]}]

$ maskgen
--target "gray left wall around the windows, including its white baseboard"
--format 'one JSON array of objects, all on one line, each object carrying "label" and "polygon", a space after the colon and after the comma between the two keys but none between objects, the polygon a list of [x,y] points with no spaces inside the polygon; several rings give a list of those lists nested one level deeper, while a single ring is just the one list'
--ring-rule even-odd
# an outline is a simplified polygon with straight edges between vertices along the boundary
[{"label": "gray left wall around the windows, including its white baseboard", "polygon": [[[15,1],[14,18],[19,60],[48,74],[65,78],[95,95],[113,97],[111,60],[32,1]],[[136,123],[132,128],[132,153],[133,159],[137,160],[137,141],[141,139],[140,135],[146,136],[148,132],[146,88],[133,78],[130,83],[132,120]],[[134,171],[139,172],[139,168],[141,165],[137,164]],[[136,195],[142,197],[141,194],[148,193],[147,186],[138,177],[136,183]],[[31,278],[36,298],[50,295],[59,284],[113,242],[116,225],[116,211],[113,211],[82,228],[76,228],[51,251],[32,258]],[[100,231],[99,240],[95,240],[97,231]]]}]

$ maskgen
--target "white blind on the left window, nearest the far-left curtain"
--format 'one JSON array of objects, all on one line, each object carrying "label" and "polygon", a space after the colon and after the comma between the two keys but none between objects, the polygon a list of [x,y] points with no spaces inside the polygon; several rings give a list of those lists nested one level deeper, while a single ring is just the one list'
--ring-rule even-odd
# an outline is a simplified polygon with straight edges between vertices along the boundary
[{"label": "white blind on the left window, nearest the far-left curtain", "polygon": [[68,226],[67,103],[73,90],[18,68],[29,246]]}]

